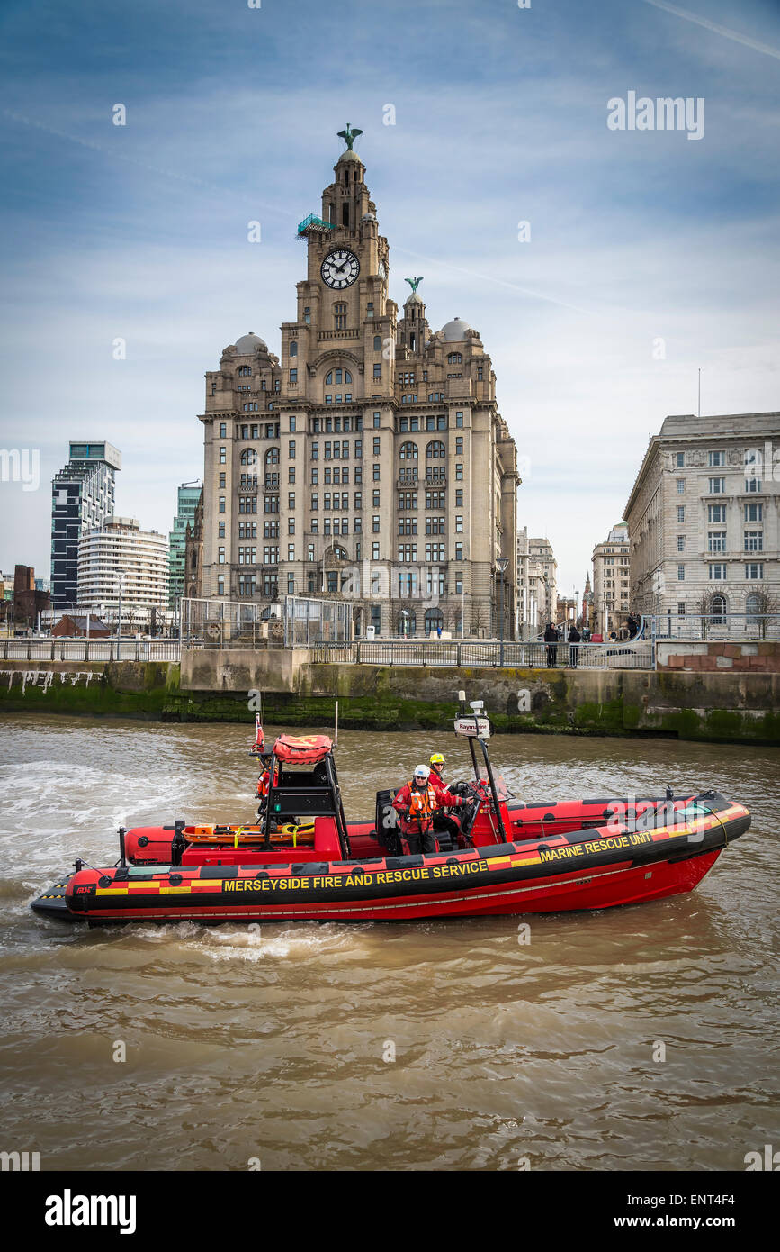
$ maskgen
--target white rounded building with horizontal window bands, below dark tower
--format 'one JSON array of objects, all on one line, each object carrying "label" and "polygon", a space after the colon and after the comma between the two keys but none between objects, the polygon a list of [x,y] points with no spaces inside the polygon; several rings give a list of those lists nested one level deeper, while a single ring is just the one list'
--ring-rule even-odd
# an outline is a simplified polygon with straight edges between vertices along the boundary
[{"label": "white rounded building with horizontal window bands, below dark tower", "polygon": [[110,612],[135,630],[161,622],[168,613],[168,540],[142,531],[132,517],[110,517],[79,541],[78,603]]}]

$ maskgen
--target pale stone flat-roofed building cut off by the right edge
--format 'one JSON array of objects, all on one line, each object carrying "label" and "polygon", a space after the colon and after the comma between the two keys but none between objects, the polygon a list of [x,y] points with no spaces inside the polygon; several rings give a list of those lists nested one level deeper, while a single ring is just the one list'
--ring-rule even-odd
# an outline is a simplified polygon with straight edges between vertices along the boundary
[{"label": "pale stone flat-roofed building cut off by the right edge", "polygon": [[779,505],[780,413],[665,418],[626,505],[632,607],[778,611]]}]

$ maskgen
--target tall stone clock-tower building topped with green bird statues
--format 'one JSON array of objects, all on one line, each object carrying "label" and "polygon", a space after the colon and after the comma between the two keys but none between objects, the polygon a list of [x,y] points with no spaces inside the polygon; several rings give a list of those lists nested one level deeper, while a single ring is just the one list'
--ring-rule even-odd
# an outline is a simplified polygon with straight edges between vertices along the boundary
[{"label": "tall stone clock-tower building topped with green bird statues", "polygon": [[249,333],[206,374],[188,586],[325,593],[355,601],[358,634],[469,637],[499,632],[502,578],[510,637],[519,480],[490,357],[458,317],[431,331],[416,275],[399,317],[356,134],[298,228],[306,277],[281,356]]}]

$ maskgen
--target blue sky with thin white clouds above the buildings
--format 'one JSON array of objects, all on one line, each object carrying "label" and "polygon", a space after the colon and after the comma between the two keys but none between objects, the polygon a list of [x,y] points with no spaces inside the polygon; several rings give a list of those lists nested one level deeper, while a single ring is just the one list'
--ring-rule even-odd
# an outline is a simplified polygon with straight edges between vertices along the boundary
[{"label": "blue sky with thin white clouds above the buildings", "polygon": [[[0,35],[0,447],[41,457],[40,491],[0,483],[4,571],[49,575],[69,438],[116,444],[118,512],[170,528],[204,372],[249,329],[279,351],[348,120],[391,294],[424,274],[431,327],[492,357],[564,591],[698,368],[702,413],[780,408],[778,0],[5,0]],[[609,130],[629,90],[704,98],[704,138]]]}]

